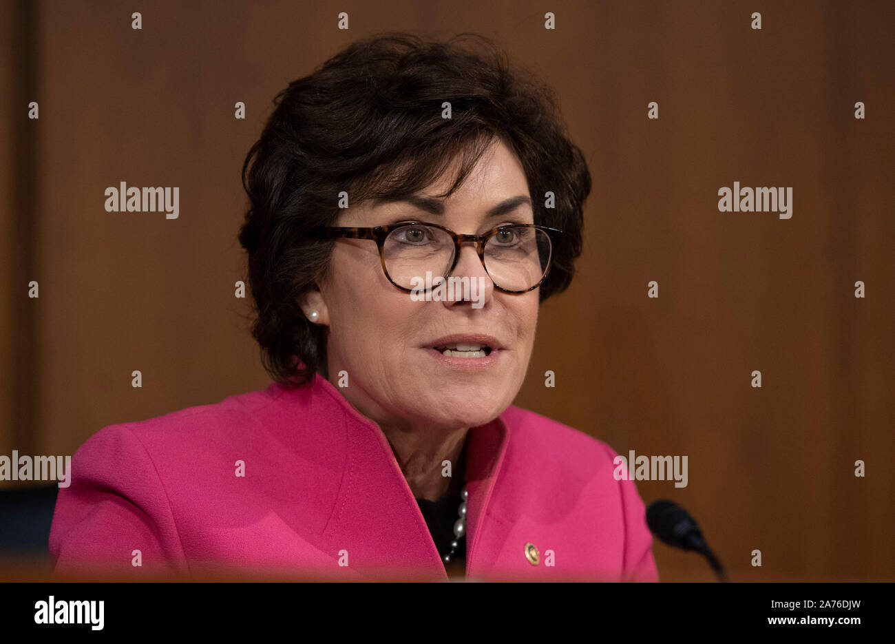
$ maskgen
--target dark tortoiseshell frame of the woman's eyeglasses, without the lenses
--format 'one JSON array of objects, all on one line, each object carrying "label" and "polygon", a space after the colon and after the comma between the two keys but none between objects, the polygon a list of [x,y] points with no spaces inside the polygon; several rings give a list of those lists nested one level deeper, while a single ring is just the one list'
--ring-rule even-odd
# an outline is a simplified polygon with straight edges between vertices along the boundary
[{"label": "dark tortoiseshell frame of the woman's eyeglasses, without the lenses", "polygon": [[[550,265],[553,263],[553,246],[556,245],[558,241],[558,237],[562,234],[562,230],[559,228],[550,228],[547,226],[540,226],[538,224],[502,224],[497,228],[491,228],[488,232],[483,233],[482,235],[459,235],[455,233],[450,228],[445,228],[444,226],[439,226],[438,224],[432,224],[428,221],[402,221],[397,224],[388,224],[387,226],[373,226],[371,228],[354,228],[354,227],[339,227],[339,226],[331,226],[328,228],[313,228],[311,230],[311,235],[316,236],[320,239],[334,238],[334,237],[345,237],[348,239],[372,239],[376,242],[376,245],[379,246],[379,263],[382,265],[382,272],[385,273],[386,279],[396,288],[400,288],[405,291],[405,293],[413,293],[414,291],[418,291],[418,289],[414,288],[406,288],[401,286],[400,284],[396,284],[396,282],[391,279],[391,276],[388,274],[388,268],[386,268],[386,253],[385,253],[385,243],[386,237],[391,234],[393,231],[398,228],[412,227],[412,226],[428,226],[430,228],[439,228],[439,230],[445,231],[451,238],[454,240],[454,261],[451,263],[450,268],[447,269],[447,275],[443,277],[447,278],[454,269],[456,268],[456,262],[460,261],[460,245],[465,242],[473,242],[475,244],[476,253],[479,255],[479,261],[482,262],[482,267],[488,273],[490,277],[490,271],[488,267],[485,266],[485,245],[488,244],[488,240],[497,235],[501,230],[507,230],[512,228],[535,228],[537,230],[543,230],[547,233],[548,238],[550,239],[550,257],[547,260],[547,267],[544,269],[544,274],[541,275],[541,279],[538,280],[538,283],[535,284],[531,288],[524,288],[521,291],[509,290],[507,288],[501,288],[494,283],[494,288],[497,288],[499,291],[503,293],[528,293],[528,291],[534,290],[538,288],[543,283],[544,279],[547,279],[547,276],[550,274]],[[494,282],[494,278],[491,278],[491,282]],[[432,285],[434,288],[437,285]],[[429,289],[425,289],[422,292],[427,292]]]}]

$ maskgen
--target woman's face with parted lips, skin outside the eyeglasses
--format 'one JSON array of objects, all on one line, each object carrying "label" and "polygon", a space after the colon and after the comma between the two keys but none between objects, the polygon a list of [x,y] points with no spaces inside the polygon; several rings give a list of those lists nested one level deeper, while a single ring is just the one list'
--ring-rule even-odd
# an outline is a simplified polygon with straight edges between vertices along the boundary
[{"label": "woman's face with parted lips, skin outside the eyeglasses", "polygon": [[[451,171],[420,196],[444,192]],[[346,209],[335,225],[366,228],[420,220],[458,234],[481,234],[504,223],[533,223],[528,194],[522,166],[498,141],[456,193],[440,200],[442,214],[410,202],[366,202]],[[514,197],[524,202],[487,215]],[[339,373],[347,372],[348,386],[340,391],[380,425],[482,425],[499,416],[522,386],[532,355],[539,289],[518,295],[495,290],[472,243],[461,245],[452,275],[468,276],[470,282],[484,278],[478,282],[485,286],[478,302],[463,301],[462,294],[452,301],[414,301],[383,274],[374,241],[339,239],[335,245],[328,279],[319,294],[311,295],[306,311],[317,309],[319,322],[328,325],[330,381],[337,385]],[[484,357],[444,356],[435,347],[447,342],[492,349]]]}]

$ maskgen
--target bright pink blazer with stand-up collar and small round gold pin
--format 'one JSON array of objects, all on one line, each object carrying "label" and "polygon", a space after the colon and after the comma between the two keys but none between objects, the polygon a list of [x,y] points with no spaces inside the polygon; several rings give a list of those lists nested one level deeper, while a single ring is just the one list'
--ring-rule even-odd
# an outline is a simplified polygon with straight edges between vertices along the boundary
[{"label": "bright pink blazer with stand-up collar and small round gold pin", "polygon": [[[605,443],[516,407],[467,441],[467,579],[658,580],[644,503]],[[447,580],[384,434],[320,375],[109,425],[71,477],[57,575]]]}]

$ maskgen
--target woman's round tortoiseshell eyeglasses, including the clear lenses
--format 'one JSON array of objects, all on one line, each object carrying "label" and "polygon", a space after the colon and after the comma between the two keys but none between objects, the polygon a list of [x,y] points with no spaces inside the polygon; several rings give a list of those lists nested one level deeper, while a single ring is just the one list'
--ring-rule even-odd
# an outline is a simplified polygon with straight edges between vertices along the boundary
[{"label": "woman's round tortoiseshell eyeglasses, including the clear lenses", "polygon": [[320,238],[372,239],[386,278],[397,288],[413,288],[430,272],[432,286],[447,279],[460,258],[460,245],[473,242],[494,288],[526,293],[541,285],[550,271],[553,245],[562,231],[536,224],[505,224],[483,235],[457,235],[450,228],[424,221],[405,221],[373,228],[316,228]]}]

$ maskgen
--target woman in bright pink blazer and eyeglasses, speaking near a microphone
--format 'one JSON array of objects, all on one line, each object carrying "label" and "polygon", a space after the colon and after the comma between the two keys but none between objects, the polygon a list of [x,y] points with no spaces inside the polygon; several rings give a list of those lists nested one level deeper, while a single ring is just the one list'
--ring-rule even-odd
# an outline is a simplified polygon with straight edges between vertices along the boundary
[{"label": "woman in bright pink blazer and eyeglasses, speaking near a microphone", "polygon": [[615,452],[511,406],[591,178],[476,43],[362,40],[280,93],[240,234],[274,382],[91,437],[57,573],[657,580]]}]

